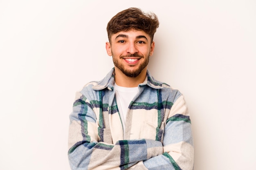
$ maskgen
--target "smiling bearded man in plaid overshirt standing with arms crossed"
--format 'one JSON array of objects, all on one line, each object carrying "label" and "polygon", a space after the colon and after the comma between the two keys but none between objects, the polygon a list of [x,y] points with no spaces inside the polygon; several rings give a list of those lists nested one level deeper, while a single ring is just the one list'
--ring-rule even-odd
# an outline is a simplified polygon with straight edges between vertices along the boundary
[{"label": "smiling bearded man in plaid overshirt standing with arms crossed", "polygon": [[115,67],[77,93],[70,115],[72,170],[192,170],[191,121],[183,95],[147,70],[159,22],[129,8],[108,23]]}]

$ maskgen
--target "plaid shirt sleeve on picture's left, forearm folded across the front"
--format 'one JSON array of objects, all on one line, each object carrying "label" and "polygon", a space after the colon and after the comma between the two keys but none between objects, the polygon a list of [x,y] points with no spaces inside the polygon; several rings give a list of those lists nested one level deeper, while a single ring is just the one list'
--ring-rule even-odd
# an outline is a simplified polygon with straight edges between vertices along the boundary
[{"label": "plaid shirt sleeve on picture's left, forearm folded across the front", "polygon": [[139,161],[162,155],[160,141],[121,140],[116,144],[99,142],[97,118],[92,103],[76,95],[70,114],[68,158],[72,170],[128,169]]}]

